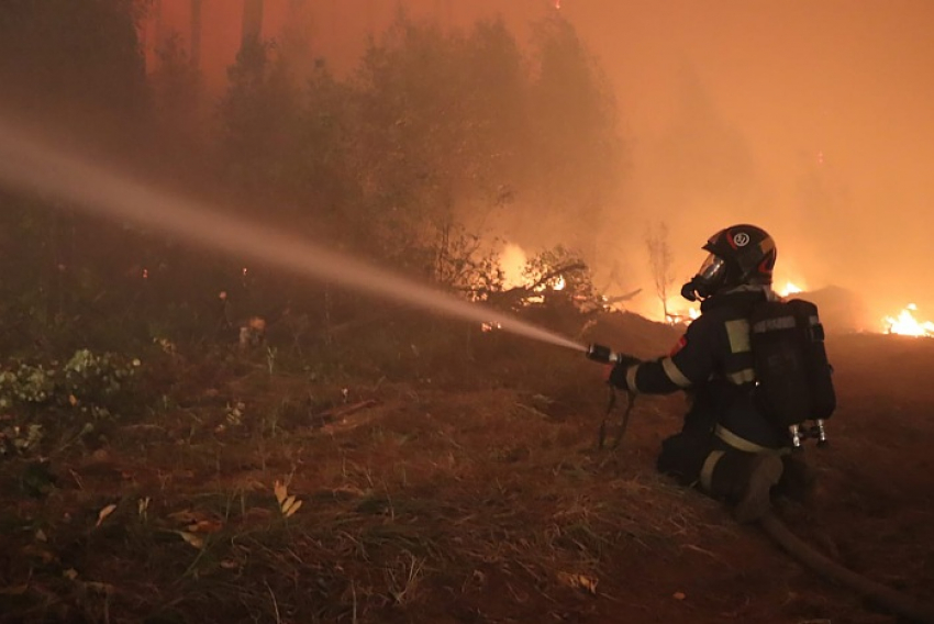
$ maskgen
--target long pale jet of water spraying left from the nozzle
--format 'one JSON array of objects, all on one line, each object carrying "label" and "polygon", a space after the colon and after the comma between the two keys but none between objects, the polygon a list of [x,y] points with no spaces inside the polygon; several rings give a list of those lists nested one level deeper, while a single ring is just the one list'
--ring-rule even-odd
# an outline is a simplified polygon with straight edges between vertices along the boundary
[{"label": "long pale jet of water spraying left from the nozzle", "polygon": [[464,301],[296,235],[222,214],[216,208],[160,191],[131,176],[90,164],[0,121],[0,181],[68,202],[82,212],[133,222],[201,247],[259,261],[347,288],[577,352],[587,347],[498,310]]}]

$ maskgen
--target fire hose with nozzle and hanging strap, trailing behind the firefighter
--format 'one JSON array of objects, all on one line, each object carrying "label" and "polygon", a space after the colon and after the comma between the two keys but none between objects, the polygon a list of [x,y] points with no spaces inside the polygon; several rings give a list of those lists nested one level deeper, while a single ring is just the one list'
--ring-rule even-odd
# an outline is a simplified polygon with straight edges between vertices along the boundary
[{"label": "fire hose with nozzle and hanging strap, trailing behind the firefighter", "polygon": [[[619,354],[615,354],[609,347],[601,345],[590,345],[587,349],[587,357],[594,361],[604,364],[618,364],[622,361],[622,357]],[[613,448],[619,445],[620,439],[625,433],[630,412],[633,409],[634,398],[634,393],[630,392],[629,403],[626,405],[625,413],[623,414],[622,428],[620,434],[616,436],[612,446]],[[614,406],[615,392],[611,388],[610,403],[607,408],[607,413],[603,416],[603,422],[600,425],[600,448],[603,447],[605,439],[607,420]],[[767,513],[761,520],[759,520],[759,525],[763,527],[763,531],[765,531],[765,533],[792,558],[818,572],[825,579],[848,588],[867,599],[869,602],[893,614],[905,617],[911,622],[934,624],[934,605],[867,579],[866,577],[841,566],[791,533],[788,526],[786,526],[785,523],[781,522],[781,520],[779,520],[779,517],[774,513]]]}]

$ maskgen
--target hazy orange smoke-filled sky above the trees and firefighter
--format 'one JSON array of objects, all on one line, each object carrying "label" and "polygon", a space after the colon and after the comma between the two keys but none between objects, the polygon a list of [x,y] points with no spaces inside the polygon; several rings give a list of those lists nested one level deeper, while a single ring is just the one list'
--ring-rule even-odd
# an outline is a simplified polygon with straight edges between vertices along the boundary
[{"label": "hazy orange smoke-filled sky above the trees and firefighter", "polygon": [[[399,4],[307,3],[312,12],[308,29],[332,65],[348,69],[367,32],[385,29]],[[599,227],[601,239],[619,241],[608,253],[623,255],[625,266],[638,271],[647,265],[646,226],[665,221],[680,283],[702,260],[700,246],[710,234],[752,222],[777,239],[780,281],[859,290],[875,319],[912,301],[921,316],[934,319],[934,279],[929,276],[934,267],[929,242],[934,227],[934,176],[929,174],[934,165],[934,2],[401,4],[415,18],[455,27],[500,14],[520,37],[527,35],[530,21],[560,5],[601,64],[620,108],[630,151],[629,167],[620,171],[625,197],[609,209],[604,224],[587,227]],[[286,21],[288,5],[266,0],[264,34]],[[225,11],[241,12],[242,5],[205,0],[203,10],[210,24]],[[205,62],[209,34],[205,29]],[[614,259],[594,264],[605,267]],[[651,290],[647,268],[642,270],[645,275],[631,281]]]}]

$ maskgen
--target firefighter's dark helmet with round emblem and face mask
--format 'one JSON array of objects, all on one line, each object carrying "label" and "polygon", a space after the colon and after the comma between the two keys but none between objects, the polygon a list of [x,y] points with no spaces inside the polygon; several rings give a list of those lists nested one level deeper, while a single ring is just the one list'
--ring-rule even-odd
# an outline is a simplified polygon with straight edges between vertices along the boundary
[{"label": "firefighter's dark helmet with round emblem and face mask", "polygon": [[778,250],[761,227],[733,225],[711,236],[703,248],[710,255],[691,281],[681,287],[685,299],[697,301],[738,286],[771,283]]}]

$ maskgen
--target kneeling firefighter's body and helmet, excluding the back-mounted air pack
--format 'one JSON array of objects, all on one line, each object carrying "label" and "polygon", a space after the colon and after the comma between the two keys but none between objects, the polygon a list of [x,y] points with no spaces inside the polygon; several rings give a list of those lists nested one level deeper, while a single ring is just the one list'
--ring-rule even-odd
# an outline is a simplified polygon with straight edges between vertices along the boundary
[{"label": "kneeling firefighter's body and helmet, excluding the back-mounted air pack", "polygon": [[755,522],[769,511],[790,452],[786,431],[754,400],[747,321],[757,303],[778,299],[771,289],[777,249],[753,225],[726,227],[703,248],[709,256],[681,288],[682,297],[701,301],[701,315],[668,356],[624,356],[609,381],[636,393],[687,391],[683,427],[663,442],[658,470],[727,502],[738,522]]}]

